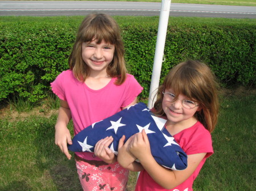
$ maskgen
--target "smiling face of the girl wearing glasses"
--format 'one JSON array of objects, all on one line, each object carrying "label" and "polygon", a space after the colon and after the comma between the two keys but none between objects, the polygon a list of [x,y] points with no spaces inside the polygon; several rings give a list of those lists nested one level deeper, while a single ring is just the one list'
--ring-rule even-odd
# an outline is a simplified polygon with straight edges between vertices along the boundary
[{"label": "smiling face of the girl wearing glasses", "polygon": [[[171,88],[166,89],[164,92],[169,92],[173,95],[175,95],[175,92],[171,90]],[[200,111],[201,107],[199,103],[194,102],[196,104],[195,108],[187,109],[183,105],[186,103],[184,102],[182,104],[183,100],[189,101],[188,97],[180,94],[177,97],[177,100],[172,102],[170,101],[172,98],[168,97],[170,95],[165,94],[163,96],[163,102],[162,107],[164,113],[166,113],[166,116],[168,118],[168,124],[169,125],[183,125],[183,126],[192,126],[195,124],[195,117],[194,114],[196,111]]]}]

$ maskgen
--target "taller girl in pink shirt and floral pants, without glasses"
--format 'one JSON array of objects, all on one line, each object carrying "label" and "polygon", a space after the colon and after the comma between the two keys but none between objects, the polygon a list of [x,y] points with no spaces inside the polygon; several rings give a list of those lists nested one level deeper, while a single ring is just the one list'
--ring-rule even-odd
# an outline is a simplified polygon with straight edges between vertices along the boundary
[{"label": "taller girl in pink shirt and floral pants, without glasses", "polygon": [[[137,103],[143,88],[127,74],[124,47],[118,24],[105,14],[91,14],[82,21],[71,55],[69,70],[51,83],[60,98],[55,125],[55,143],[68,159],[67,143],[72,144],[67,128],[73,120],[75,135]],[[111,142],[112,137],[99,145]],[[94,153],[76,152],[76,167],[84,190],[125,190],[128,170],[121,167],[113,152],[95,148]]]}]

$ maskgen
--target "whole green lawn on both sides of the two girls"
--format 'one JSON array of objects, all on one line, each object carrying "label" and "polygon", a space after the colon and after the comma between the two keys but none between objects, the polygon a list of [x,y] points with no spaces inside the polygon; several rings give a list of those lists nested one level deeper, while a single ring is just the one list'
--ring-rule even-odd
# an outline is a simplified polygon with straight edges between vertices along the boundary
[{"label": "whole green lawn on both sides of the two girls", "polygon": [[[195,191],[255,190],[256,94],[248,92],[222,97],[212,134],[215,153],[196,179]],[[75,161],[67,160],[54,144],[57,114],[14,117],[9,109],[5,114],[0,122],[0,190],[81,190]],[[129,191],[136,179],[137,173],[130,173]]]}]

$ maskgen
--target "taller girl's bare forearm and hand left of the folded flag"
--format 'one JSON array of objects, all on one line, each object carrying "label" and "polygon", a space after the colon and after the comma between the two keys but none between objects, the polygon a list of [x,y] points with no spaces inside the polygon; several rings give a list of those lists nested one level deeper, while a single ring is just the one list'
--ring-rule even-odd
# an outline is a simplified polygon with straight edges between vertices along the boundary
[{"label": "taller girl's bare forearm and hand left of the folded flag", "polygon": [[55,124],[55,144],[60,147],[68,159],[71,159],[71,154],[68,152],[68,146],[72,145],[71,134],[67,128],[68,122],[71,120],[71,111],[67,101],[60,100],[60,108]]}]

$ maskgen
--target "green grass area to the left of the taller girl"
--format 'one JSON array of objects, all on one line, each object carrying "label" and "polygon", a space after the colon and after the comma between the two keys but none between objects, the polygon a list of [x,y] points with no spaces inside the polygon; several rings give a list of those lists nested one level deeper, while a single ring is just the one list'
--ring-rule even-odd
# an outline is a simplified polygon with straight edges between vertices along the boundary
[{"label": "green grass area to the left of the taller girl", "polygon": [[54,143],[56,117],[0,121],[1,191],[82,191],[75,160]]}]

